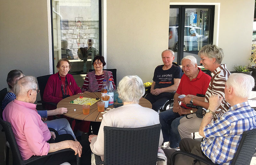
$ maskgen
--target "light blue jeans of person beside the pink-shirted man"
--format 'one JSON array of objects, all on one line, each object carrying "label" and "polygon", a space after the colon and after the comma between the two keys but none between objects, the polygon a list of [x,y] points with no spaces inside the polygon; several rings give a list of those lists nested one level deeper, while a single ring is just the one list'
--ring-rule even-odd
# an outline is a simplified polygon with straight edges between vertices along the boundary
[{"label": "light blue jeans of person beside the pink-shirted man", "polygon": [[70,134],[73,136],[74,139],[76,138],[76,136],[75,136],[73,130],[71,129],[69,122],[66,118],[50,120],[50,121],[46,121],[44,123],[47,124],[48,128],[53,128],[54,130],[56,130],[59,133],[59,135]]}]

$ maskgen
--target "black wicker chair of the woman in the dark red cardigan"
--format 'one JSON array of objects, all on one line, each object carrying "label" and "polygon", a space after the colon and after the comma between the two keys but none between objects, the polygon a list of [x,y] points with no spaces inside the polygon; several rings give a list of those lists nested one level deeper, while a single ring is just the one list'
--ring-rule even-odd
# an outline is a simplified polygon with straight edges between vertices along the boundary
[{"label": "black wicker chair of the woman in the dark red cardigan", "polygon": [[45,102],[43,100],[43,96],[44,96],[44,88],[46,86],[46,83],[49,79],[51,75],[44,75],[44,76],[39,76],[39,77],[36,77],[37,79],[37,83],[38,83],[38,87],[39,87],[39,90],[40,90],[40,97],[41,97],[41,100],[40,101],[37,101],[37,103],[42,103],[42,106],[43,108],[45,108],[45,104],[51,104],[53,106],[57,106],[56,103],[52,103],[52,102]]}]

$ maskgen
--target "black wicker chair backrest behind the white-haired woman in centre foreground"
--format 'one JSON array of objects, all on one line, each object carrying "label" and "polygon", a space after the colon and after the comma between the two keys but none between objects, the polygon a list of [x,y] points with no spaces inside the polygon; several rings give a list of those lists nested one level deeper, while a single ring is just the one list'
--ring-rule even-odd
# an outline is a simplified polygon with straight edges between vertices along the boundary
[{"label": "black wicker chair backrest behind the white-haired woman in centre foreground", "polygon": [[104,126],[104,165],[156,165],[161,124],[140,128]]}]

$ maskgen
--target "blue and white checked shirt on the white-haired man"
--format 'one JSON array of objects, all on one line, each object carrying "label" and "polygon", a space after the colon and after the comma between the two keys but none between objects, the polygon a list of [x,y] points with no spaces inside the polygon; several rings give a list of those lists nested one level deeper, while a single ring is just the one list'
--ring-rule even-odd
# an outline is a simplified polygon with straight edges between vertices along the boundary
[{"label": "blue and white checked shirt on the white-haired man", "polygon": [[243,132],[255,128],[256,113],[249,103],[236,104],[204,128],[201,149],[212,162],[231,164]]}]

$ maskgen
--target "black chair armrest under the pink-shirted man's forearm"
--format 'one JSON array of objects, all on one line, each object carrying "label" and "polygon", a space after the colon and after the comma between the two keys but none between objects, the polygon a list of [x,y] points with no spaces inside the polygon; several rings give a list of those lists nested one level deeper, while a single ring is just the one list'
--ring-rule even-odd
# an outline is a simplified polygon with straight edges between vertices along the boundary
[{"label": "black chair armrest under the pink-shirted man's forearm", "polygon": [[[52,156],[52,155],[57,154],[57,153],[64,153],[64,152],[67,152],[67,151],[73,151],[75,153],[75,151],[72,150],[71,148],[62,149],[62,150],[59,150],[59,151],[48,153],[47,155],[44,155],[44,156],[32,156],[28,160],[23,161],[23,165],[33,163],[33,161],[40,160],[44,157]],[[80,158],[79,158],[78,154],[76,154],[76,165],[80,165]]]}]

